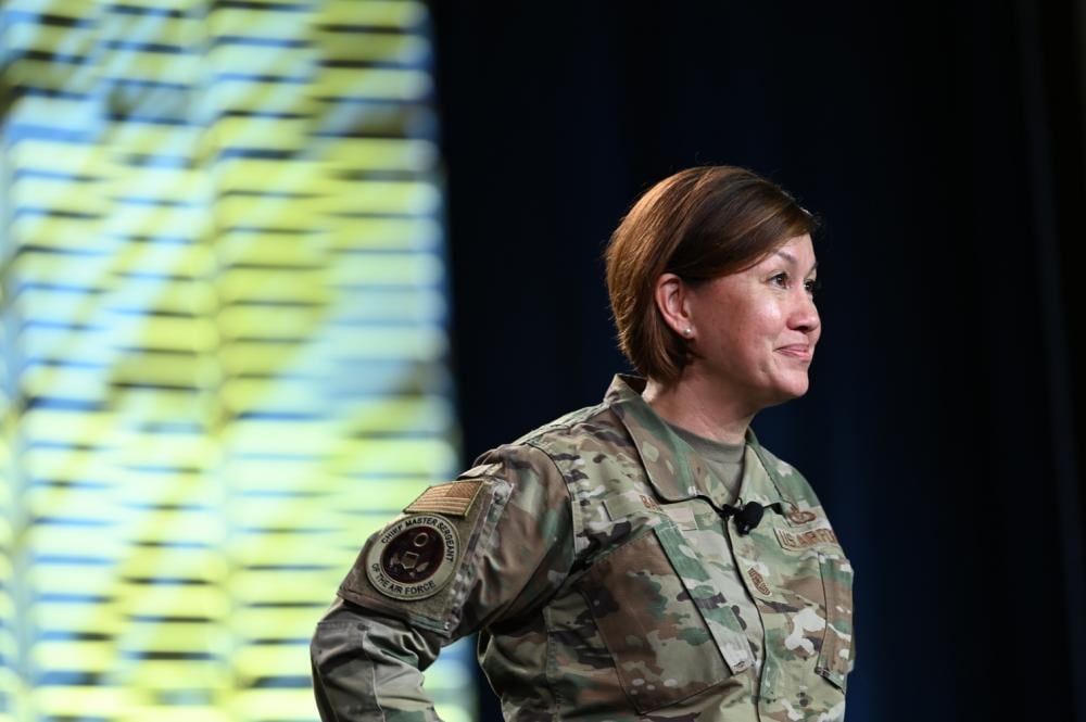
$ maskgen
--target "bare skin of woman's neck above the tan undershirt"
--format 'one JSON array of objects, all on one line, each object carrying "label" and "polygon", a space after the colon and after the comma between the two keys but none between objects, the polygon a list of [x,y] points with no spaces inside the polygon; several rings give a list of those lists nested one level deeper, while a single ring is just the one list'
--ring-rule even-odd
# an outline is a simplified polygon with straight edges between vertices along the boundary
[{"label": "bare skin of woman's neck above the tan undershirt", "polygon": [[725,444],[744,443],[754,418],[717,384],[687,373],[667,385],[649,379],[641,396],[669,423]]}]

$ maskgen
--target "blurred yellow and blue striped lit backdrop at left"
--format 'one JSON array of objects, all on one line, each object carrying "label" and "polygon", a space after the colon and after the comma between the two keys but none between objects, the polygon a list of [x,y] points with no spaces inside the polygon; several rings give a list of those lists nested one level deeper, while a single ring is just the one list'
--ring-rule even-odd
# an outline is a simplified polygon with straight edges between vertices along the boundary
[{"label": "blurred yellow and blue striped lit backdrop at left", "polygon": [[314,720],[314,623],[458,461],[426,7],[0,8],[0,720]]}]

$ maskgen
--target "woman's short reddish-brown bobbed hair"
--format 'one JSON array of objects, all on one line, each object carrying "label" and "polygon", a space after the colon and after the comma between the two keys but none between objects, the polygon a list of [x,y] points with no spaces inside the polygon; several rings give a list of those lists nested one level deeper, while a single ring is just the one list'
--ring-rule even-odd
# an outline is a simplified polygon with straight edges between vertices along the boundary
[{"label": "woman's short reddish-brown bobbed hair", "polygon": [[745,168],[687,168],[656,183],[607,244],[622,353],[644,376],[677,380],[690,353],[656,306],[656,280],[670,273],[696,283],[744,270],[817,226],[784,189]]}]

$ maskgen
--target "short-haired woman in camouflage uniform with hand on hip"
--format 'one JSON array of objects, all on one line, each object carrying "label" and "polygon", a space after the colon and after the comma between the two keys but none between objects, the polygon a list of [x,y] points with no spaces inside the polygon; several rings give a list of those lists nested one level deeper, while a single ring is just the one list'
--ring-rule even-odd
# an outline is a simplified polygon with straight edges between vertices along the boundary
[{"label": "short-haired woman in camouflage uniform with hand on hip", "polygon": [[419,670],[476,631],[510,720],[843,719],[851,568],[749,430],[807,391],[813,228],[742,168],[639,200],[607,284],[647,380],[616,377],[370,537],[314,636],[323,719],[437,719]]}]

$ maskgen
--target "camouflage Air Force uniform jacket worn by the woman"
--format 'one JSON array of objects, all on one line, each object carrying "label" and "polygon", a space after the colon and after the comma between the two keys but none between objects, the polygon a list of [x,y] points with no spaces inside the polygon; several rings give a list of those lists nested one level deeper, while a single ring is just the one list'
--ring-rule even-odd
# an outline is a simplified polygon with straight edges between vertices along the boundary
[{"label": "camouflage Air Force uniform jacket worn by the woman", "polygon": [[815,493],[750,434],[740,496],[783,514],[738,534],[641,383],[370,537],[313,639],[324,720],[438,719],[419,670],[476,631],[508,720],[843,719],[853,569]]}]

